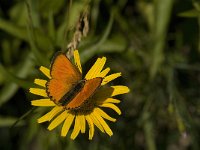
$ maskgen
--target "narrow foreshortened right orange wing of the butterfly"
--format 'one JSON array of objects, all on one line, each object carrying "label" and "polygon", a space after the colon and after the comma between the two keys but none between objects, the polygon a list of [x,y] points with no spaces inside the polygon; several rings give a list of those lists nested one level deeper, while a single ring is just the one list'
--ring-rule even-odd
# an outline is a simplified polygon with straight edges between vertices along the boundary
[{"label": "narrow foreshortened right orange wing of the butterfly", "polygon": [[84,102],[86,102],[101,85],[102,78],[97,77],[87,80],[84,87],[79,93],[66,105],[66,109],[79,108]]}]

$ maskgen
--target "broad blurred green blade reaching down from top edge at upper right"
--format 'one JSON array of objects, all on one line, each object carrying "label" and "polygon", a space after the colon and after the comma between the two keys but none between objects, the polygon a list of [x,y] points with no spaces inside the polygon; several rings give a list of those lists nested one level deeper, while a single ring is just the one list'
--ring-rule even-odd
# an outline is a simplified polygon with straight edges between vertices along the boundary
[{"label": "broad blurred green blade reaching down from top edge at upper right", "polygon": [[174,0],[156,0],[155,1],[155,30],[152,35],[154,36],[154,46],[152,52],[152,65],[150,68],[150,75],[153,78],[161,63],[164,60],[164,46],[167,35],[168,24],[170,21],[172,6]]}]

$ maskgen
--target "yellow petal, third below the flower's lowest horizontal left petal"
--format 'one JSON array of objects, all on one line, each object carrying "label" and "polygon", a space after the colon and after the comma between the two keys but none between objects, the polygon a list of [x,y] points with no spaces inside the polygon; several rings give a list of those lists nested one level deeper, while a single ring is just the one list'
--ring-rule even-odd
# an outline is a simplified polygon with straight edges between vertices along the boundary
[{"label": "yellow petal, third below the flower's lowest horizontal left petal", "polygon": [[65,122],[64,122],[64,124],[62,126],[61,136],[66,136],[67,135],[67,133],[68,133],[73,121],[74,121],[74,115],[68,113],[68,116],[66,117]]}]

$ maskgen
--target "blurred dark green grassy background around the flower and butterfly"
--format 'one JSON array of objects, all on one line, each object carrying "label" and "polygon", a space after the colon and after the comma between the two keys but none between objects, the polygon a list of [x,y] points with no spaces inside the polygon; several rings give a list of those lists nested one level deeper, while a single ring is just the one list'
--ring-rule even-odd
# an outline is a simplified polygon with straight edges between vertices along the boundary
[{"label": "blurred dark green grassy background around the flower and butterfly", "polygon": [[[29,94],[39,66],[73,39],[79,16],[89,31],[78,49],[87,71],[106,56],[131,92],[118,97],[110,138],[95,130],[75,141],[38,124]],[[14,126],[13,124],[18,121]],[[88,130],[87,130],[88,131]],[[161,149],[200,147],[200,2],[198,0],[0,0],[0,149]]]}]

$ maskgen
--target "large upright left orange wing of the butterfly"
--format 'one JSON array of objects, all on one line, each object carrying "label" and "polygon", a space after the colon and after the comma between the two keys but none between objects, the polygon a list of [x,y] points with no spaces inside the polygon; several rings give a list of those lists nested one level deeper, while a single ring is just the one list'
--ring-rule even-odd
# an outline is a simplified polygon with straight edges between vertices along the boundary
[{"label": "large upright left orange wing of the butterfly", "polygon": [[51,64],[51,79],[47,82],[47,94],[55,102],[81,80],[81,73],[61,52],[55,55]]}]

